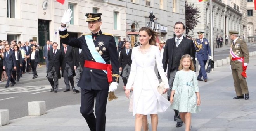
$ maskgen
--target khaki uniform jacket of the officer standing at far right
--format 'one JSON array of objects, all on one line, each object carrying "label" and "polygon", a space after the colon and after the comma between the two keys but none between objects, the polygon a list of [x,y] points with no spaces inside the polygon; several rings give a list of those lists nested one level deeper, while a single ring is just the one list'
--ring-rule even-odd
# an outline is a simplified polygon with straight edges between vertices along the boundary
[{"label": "khaki uniform jacket of the officer standing at far right", "polygon": [[[231,48],[234,54],[236,54],[238,57],[244,57],[244,63],[249,63],[249,50],[246,42],[243,39],[238,38],[234,45],[231,44]],[[230,65],[231,69],[236,69],[242,67],[242,62],[230,60]]]}]

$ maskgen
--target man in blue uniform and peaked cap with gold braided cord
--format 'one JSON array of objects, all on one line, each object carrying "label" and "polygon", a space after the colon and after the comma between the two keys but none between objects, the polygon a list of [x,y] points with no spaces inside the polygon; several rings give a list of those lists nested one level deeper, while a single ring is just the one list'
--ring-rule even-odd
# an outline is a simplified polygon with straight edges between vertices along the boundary
[{"label": "man in blue uniform and peaked cap with gold braided cord", "polygon": [[208,60],[208,54],[209,54],[209,59],[212,59],[211,57],[211,49],[210,49],[210,44],[206,38],[204,38],[204,32],[199,31],[197,32],[198,38],[194,43],[195,43],[195,50],[196,50],[196,55],[195,59],[198,60],[199,65],[200,65],[200,70],[199,74],[197,76],[197,80],[203,81],[202,77],[204,79],[204,82],[207,82],[207,74],[205,71],[205,64]]}]

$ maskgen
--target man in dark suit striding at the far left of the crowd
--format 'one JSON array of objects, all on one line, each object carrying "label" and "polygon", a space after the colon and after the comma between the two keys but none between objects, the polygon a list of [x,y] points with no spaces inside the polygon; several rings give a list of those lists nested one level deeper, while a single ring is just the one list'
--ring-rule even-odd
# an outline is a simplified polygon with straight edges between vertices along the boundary
[{"label": "man in dark suit striding at the far left of the crowd", "polygon": [[5,45],[5,49],[6,51],[4,52],[3,69],[5,69],[8,77],[5,88],[8,88],[10,82],[12,82],[11,86],[16,84],[12,78],[12,69],[16,70],[16,59],[14,52],[10,50],[10,45]]}]

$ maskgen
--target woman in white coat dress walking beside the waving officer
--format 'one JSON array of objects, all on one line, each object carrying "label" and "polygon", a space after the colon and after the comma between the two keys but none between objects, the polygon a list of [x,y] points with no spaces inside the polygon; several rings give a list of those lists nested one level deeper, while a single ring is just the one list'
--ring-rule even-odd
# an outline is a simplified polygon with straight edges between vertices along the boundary
[{"label": "woman in white coat dress walking beside the waving officer", "polygon": [[163,93],[169,88],[167,77],[164,73],[160,50],[156,45],[156,32],[149,27],[139,30],[140,46],[134,47],[131,54],[131,72],[126,84],[125,95],[129,98],[133,84],[133,116],[135,116],[135,131],[141,131],[142,118],[150,114],[152,131],[157,131],[158,112],[164,112],[170,106],[159,92],[158,78],[154,71],[155,64],[165,84]]}]

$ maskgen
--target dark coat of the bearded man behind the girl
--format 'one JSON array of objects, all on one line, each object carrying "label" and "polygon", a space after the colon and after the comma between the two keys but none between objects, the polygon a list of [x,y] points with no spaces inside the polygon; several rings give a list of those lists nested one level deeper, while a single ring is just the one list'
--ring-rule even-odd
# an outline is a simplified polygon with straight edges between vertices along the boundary
[{"label": "dark coat of the bearded man behind the girl", "polygon": [[[195,67],[195,47],[194,43],[192,40],[185,38],[182,36],[183,39],[180,42],[179,46],[182,46],[181,48],[181,56],[189,54],[191,57],[193,57],[193,62],[194,62],[194,67]],[[164,72],[167,71],[167,78],[169,79],[170,77],[170,72],[171,72],[171,62],[173,62],[173,48],[176,46],[175,44],[175,37],[168,39],[166,41],[166,45],[164,47],[164,54],[163,54],[163,66],[164,66]],[[167,68],[167,64],[168,69]]]}]

